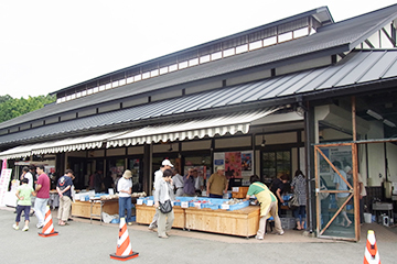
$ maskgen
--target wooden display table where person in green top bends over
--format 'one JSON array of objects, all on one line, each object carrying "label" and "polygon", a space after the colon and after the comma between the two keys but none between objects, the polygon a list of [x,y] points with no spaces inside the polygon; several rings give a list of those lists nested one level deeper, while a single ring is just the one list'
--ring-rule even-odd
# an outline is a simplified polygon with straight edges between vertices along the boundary
[{"label": "wooden display table where person in green top bends over", "polygon": [[259,207],[246,207],[240,210],[185,209],[187,230],[253,237],[259,227]]}]

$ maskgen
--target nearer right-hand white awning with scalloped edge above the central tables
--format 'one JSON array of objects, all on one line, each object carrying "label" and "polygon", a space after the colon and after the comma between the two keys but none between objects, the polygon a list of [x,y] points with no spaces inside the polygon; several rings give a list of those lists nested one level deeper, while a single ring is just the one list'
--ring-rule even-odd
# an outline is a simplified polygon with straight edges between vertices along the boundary
[{"label": "nearer right-hand white awning with scalloped edge above the central tables", "polygon": [[194,138],[235,134],[237,132],[248,133],[250,122],[268,116],[278,110],[271,108],[266,110],[246,111],[230,113],[219,117],[198,118],[179,122],[148,125],[138,130],[131,130],[122,135],[110,139],[106,147],[122,145],[136,145],[151,142],[183,141]]}]

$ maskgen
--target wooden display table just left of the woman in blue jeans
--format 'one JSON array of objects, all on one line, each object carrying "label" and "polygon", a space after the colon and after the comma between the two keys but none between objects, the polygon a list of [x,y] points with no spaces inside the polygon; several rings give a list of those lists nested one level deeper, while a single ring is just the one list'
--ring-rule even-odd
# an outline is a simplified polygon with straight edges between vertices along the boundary
[{"label": "wooden display table just left of the woman in blue jeans", "polygon": [[[118,199],[103,200],[104,202],[94,202],[93,212],[90,211],[90,201],[72,202],[72,216],[82,218],[101,219],[101,211],[109,215],[118,215]],[[92,216],[93,215],[93,216]]]}]

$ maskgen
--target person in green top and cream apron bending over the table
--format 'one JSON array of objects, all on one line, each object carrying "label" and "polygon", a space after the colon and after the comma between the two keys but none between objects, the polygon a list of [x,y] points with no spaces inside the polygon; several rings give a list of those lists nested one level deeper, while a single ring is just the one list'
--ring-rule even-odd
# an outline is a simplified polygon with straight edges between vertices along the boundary
[{"label": "person in green top and cream apron bending over the table", "polygon": [[266,220],[270,217],[275,219],[275,228],[278,234],[283,234],[283,230],[281,228],[281,221],[278,216],[278,206],[276,196],[269,190],[269,188],[259,182],[259,177],[257,175],[250,176],[250,186],[247,191],[246,199],[248,200],[250,196],[255,196],[260,205],[260,220],[259,220],[259,229],[257,231],[257,235],[255,237],[258,240],[262,240],[266,231]]}]

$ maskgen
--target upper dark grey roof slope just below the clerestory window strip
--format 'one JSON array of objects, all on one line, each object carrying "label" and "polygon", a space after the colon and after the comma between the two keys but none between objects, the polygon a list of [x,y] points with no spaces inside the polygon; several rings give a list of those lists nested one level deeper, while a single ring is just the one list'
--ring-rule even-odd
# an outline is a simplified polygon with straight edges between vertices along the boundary
[{"label": "upper dark grey roof slope just below the clerestory window strip", "polygon": [[[227,74],[249,68],[272,68],[290,64],[293,59],[296,59],[296,62],[302,62],[305,59],[305,56],[320,57],[348,52],[395,18],[397,18],[397,4],[320,28],[318,33],[307,37],[197,65],[63,103],[51,105],[43,109],[6,121],[0,124],[0,129],[126,97],[133,97],[146,92],[155,92],[155,90],[168,87],[213,77],[221,78]],[[272,94],[269,94],[266,98],[269,98],[271,95]]]}]

